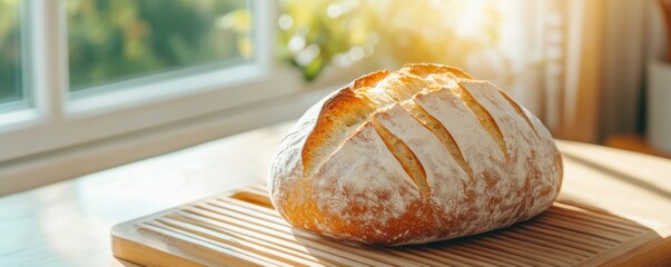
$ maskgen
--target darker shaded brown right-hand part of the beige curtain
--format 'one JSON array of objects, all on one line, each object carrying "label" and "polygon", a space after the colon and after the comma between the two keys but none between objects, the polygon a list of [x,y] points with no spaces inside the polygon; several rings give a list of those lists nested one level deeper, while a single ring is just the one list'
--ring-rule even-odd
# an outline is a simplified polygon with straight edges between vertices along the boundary
[{"label": "darker shaded brown right-hand part of the beige curtain", "polygon": [[643,79],[651,1],[605,1],[599,139],[644,130]]}]

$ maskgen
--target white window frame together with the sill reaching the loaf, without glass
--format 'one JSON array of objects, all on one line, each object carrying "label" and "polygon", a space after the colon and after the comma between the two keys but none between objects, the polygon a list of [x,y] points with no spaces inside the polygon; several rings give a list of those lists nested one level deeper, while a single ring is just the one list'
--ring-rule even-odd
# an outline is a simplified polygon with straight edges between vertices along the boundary
[{"label": "white window frame together with the sill reaching the loaf, without glass", "polygon": [[362,62],[329,68],[306,82],[273,55],[277,2],[249,0],[253,63],[164,72],[70,100],[66,1],[23,0],[21,27],[30,27],[21,37],[23,83],[31,106],[0,112],[0,196],[295,119],[371,70]]}]

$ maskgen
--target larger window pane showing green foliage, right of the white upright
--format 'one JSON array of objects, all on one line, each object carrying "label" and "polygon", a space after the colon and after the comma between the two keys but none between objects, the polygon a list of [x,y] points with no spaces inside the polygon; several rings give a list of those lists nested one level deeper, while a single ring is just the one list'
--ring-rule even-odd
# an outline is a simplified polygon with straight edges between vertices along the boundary
[{"label": "larger window pane showing green foliage, right of the white upright", "polygon": [[247,7],[245,0],[68,0],[70,90],[249,60]]}]

